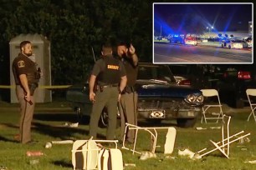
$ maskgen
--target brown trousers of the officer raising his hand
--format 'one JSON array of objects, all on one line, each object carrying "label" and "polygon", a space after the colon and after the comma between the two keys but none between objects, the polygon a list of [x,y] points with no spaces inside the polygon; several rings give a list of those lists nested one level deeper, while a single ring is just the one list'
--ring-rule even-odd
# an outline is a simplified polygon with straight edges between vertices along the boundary
[{"label": "brown trousers of the officer raising his hand", "polygon": [[[125,122],[133,125],[137,125],[137,101],[138,94],[136,92],[127,93],[121,95],[119,102],[119,112],[121,121],[121,137],[125,135]],[[127,141],[134,142],[135,130],[128,130],[126,134]]]}]

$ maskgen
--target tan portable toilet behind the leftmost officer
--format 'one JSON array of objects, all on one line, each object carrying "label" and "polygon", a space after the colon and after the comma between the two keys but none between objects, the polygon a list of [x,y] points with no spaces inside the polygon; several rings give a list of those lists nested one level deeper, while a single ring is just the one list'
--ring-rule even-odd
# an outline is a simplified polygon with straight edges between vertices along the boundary
[{"label": "tan portable toilet behind the leftmost officer", "polygon": [[43,76],[40,78],[38,88],[34,93],[35,102],[52,102],[52,92],[46,89],[51,86],[51,57],[50,57],[50,42],[39,34],[20,34],[13,37],[9,42],[10,45],[10,82],[11,82],[11,102],[18,102],[15,90],[15,80],[13,77],[13,59],[18,57],[20,53],[19,44],[23,41],[30,41],[33,46],[33,55],[35,62],[41,68]]}]

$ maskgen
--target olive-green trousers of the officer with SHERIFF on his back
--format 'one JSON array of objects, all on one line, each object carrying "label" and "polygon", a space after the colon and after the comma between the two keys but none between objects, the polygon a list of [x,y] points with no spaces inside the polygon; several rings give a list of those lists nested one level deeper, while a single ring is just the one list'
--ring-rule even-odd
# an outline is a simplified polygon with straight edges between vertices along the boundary
[{"label": "olive-green trousers of the officer with SHERIFF on his back", "polygon": [[90,137],[97,138],[100,114],[103,108],[106,107],[109,115],[106,139],[113,140],[115,138],[118,95],[117,87],[105,87],[103,92],[96,92],[95,102],[90,115]]}]

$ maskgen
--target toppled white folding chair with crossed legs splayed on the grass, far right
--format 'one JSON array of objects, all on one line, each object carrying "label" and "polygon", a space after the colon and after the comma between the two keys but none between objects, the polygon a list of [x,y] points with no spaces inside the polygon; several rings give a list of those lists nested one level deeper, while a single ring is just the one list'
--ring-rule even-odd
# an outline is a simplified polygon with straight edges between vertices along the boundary
[{"label": "toppled white folding chair with crossed legs splayed on the grass, far right", "polygon": [[[210,142],[212,143],[212,145],[215,148],[213,148],[212,150],[207,151],[205,153],[203,153],[203,152],[206,151],[207,148],[203,148],[202,150],[195,153],[195,155],[197,154],[197,158],[202,158],[203,156],[205,156],[209,153],[212,153],[213,151],[216,151],[216,150],[219,150],[221,153],[223,153],[223,155],[226,158],[229,158],[229,144],[234,143],[234,142],[240,140],[241,138],[245,138],[250,135],[250,133],[244,134],[244,132],[241,131],[240,133],[236,133],[236,134],[230,136],[229,135],[230,119],[231,119],[230,116],[223,115],[222,141],[215,143],[212,140],[210,140]],[[194,157],[195,157],[195,155],[194,155]]]}]

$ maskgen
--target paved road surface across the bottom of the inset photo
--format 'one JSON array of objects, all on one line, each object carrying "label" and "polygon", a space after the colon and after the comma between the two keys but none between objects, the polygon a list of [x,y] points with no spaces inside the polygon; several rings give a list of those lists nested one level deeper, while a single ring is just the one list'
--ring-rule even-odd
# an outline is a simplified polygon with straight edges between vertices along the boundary
[{"label": "paved road surface across the bottom of the inset photo", "polygon": [[154,43],[155,63],[251,63],[252,51],[215,46]]}]

